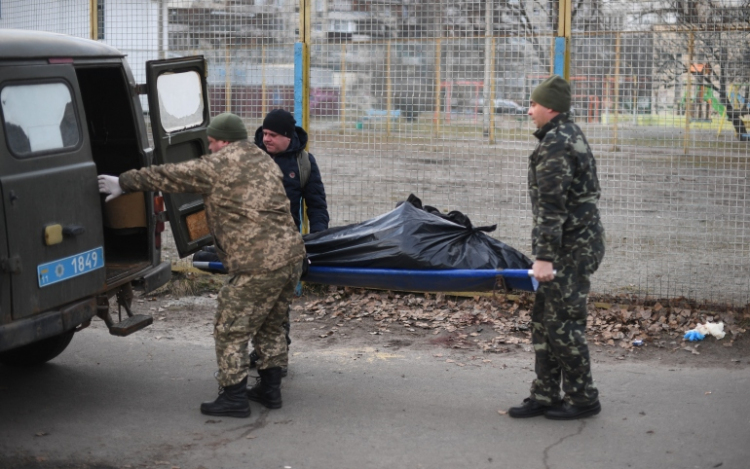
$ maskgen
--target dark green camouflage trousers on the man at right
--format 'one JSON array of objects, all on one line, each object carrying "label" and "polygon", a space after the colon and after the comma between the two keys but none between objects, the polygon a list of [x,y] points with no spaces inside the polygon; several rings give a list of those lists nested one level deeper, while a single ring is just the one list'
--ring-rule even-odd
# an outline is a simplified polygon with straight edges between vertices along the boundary
[{"label": "dark green camouflage trousers on the man at right", "polygon": [[597,401],[599,391],[591,376],[586,341],[589,280],[604,257],[604,242],[597,241],[554,261],[555,279],[540,283],[531,312],[536,379],[531,398],[547,405],[563,400],[572,405]]}]

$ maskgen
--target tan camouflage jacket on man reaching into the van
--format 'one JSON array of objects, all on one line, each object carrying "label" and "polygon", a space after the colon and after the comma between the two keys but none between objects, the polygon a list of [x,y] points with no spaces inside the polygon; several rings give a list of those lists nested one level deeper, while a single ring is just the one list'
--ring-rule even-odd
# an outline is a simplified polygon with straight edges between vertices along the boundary
[{"label": "tan camouflage jacket on man reaching into the van", "polygon": [[128,171],[120,186],[201,194],[219,258],[232,274],[268,272],[304,257],[281,170],[248,140],[184,163]]}]

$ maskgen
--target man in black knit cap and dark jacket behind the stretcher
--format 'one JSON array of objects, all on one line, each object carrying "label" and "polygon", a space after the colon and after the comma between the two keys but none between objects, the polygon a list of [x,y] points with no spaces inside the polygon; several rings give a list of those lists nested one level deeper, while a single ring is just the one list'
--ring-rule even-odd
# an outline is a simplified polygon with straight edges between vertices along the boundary
[{"label": "man in black knit cap and dark jacket behind the stretcher", "polygon": [[[255,131],[255,144],[271,155],[284,174],[284,189],[289,197],[292,218],[299,229],[304,219],[303,207],[307,208],[310,222],[310,233],[328,229],[328,205],[326,191],[320,177],[320,169],[315,157],[307,153],[309,172],[305,173],[303,152],[307,146],[307,132],[296,125],[294,116],[284,109],[273,109],[269,112],[263,125]],[[302,184],[302,177],[306,183]]]}]

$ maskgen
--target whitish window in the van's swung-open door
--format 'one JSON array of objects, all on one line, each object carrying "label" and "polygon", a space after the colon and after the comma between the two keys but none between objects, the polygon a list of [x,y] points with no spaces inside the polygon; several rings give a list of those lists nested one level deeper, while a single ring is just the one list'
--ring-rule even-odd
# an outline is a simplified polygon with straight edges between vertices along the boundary
[{"label": "whitish window in the van's swung-open door", "polygon": [[161,126],[167,132],[203,123],[203,87],[197,72],[163,73],[156,79]]}]

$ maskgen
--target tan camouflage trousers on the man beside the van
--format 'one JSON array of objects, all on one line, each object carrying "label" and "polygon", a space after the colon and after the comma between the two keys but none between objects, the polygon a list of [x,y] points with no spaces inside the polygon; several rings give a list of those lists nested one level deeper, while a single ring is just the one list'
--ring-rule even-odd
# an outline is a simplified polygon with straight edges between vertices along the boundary
[{"label": "tan camouflage trousers on the man beside the van", "polygon": [[253,341],[259,368],[287,366],[288,308],[302,273],[300,262],[259,275],[234,275],[219,291],[214,318],[219,384],[231,386],[248,372],[248,342]]}]

